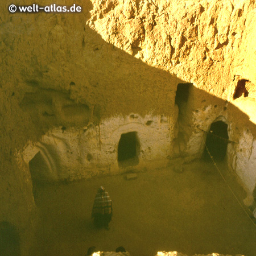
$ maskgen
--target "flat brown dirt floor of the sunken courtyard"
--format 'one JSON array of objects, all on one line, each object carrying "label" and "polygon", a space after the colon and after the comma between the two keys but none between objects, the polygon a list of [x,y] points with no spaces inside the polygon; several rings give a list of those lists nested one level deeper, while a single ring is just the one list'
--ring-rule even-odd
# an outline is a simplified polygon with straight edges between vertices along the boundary
[{"label": "flat brown dirt floor of the sunken courtyard", "polygon": [[[224,163],[225,179],[242,201],[246,197]],[[131,256],[157,251],[193,254],[256,255],[256,227],[242,210],[212,163],[184,164],[124,175],[38,188],[40,225],[35,256],[84,256],[90,246],[114,251],[124,246]],[[90,218],[100,185],[113,201],[110,230],[94,229]]]}]

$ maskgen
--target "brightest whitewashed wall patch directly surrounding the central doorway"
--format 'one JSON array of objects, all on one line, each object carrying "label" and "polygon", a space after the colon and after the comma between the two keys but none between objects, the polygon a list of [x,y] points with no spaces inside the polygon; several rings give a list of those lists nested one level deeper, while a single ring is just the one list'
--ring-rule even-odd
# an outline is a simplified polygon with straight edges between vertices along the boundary
[{"label": "brightest whitewashed wall patch directly surrounding the central doorway", "polygon": [[171,154],[175,122],[164,116],[146,115],[142,118],[137,114],[105,120],[100,125],[102,160],[111,158],[112,169],[117,171],[117,148],[121,134],[136,131],[140,144],[138,168],[154,168],[156,162],[157,166],[160,162],[166,163],[167,156]]}]

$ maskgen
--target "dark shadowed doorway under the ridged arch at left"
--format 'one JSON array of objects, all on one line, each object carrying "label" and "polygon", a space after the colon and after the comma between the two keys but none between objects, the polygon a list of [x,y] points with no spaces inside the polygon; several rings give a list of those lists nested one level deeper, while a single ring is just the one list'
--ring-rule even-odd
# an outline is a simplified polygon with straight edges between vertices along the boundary
[{"label": "dark shadowed doorway under the ridged arch at left", "polygon": [[34,200],[38,199],[38,188],[48,182],[49,168],[40,151],[29,162]]}]

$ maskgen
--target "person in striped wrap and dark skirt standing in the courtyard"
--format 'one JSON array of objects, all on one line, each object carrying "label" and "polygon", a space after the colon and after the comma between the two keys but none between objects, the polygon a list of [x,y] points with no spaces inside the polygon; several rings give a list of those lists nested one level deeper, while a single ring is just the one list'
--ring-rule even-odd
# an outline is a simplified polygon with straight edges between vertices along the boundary
[{"label": "person in striped wrap and dark skirt standing in the courtyard", "polygon": [[96,228],[105,228],[109,230],[109,222],[112,220],[112,200],[109,193],[105,191],[104,187],[100,187],[95,196],[92,218]]}]

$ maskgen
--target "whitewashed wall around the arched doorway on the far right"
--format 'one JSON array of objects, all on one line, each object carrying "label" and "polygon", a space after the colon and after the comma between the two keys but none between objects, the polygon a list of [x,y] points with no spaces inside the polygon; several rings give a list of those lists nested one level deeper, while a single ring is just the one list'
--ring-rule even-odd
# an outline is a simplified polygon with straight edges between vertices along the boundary
[{"label": "whitewashed wall around the arched doorway on the far right", "polygon": [[256,139],[246,127],[242,131],[236,130],[235,123],[228,121],[228,113],[222,112],[222,115],[218,116],[217,114],[220,113],[216,112],[211,105],[193,112],[192,135],[189,137],[185,153],[189,156],[200,156],[204,151],[204,142],[207,137],[204,131],[209,131],[213,122],[227,123],[229,140],[234,142],[228,143],[226,159],[229,169],[236,172],[243,188],[246,189],[245,202],[250,205],[253,202],[253,191],[256,185]]}]

